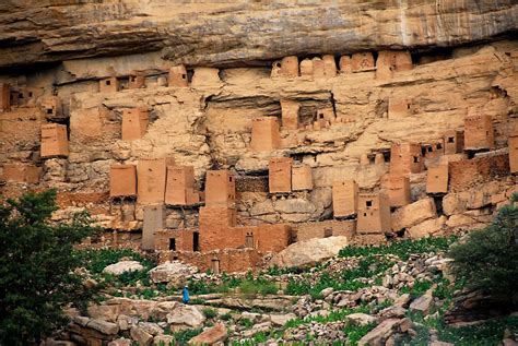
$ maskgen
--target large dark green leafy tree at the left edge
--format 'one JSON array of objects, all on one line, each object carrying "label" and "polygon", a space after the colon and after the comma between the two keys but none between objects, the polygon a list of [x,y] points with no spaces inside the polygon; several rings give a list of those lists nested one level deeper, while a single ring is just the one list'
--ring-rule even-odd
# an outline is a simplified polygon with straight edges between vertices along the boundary
[{"label": "large dark green leafy tree at the left edge", "polygon": [[63,308],[95,294],[72,250],[96,228],[86,213],[55,223],[57,208],[55,190],[0,202],[0,345],[38,343],[67,322]]}]

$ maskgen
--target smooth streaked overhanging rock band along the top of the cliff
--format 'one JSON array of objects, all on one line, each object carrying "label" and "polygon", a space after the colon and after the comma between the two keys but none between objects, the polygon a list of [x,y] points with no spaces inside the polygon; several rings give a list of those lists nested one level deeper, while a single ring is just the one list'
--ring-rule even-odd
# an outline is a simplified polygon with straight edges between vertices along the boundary
[{"label": "smooth streaked overhanging rock band along the top of the cliff", "polygon": [[188,65],[246,65],[290,55],[452,47],[518,28],[513,0],[8,0],[0,13],[0,67],[150,51]]}]

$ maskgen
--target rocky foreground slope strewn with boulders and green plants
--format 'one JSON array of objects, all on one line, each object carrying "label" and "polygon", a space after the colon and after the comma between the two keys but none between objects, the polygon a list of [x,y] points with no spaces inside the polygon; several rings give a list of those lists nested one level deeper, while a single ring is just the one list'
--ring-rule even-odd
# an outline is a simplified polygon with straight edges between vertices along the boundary
[{"label": "rocky foreground slope strewn with boulders and green plants", "polygon": [[[104,341],[110,346],[131,342],[445,346],[496,345],[502,339],[514,345],[516,317],[462,326],[491,317],[497,306],[487,309],[486,297],[452,283],[450,260],[445,258],[449,243],[451,239],[432,239],[345,248],[313,267],[274,267],[256,275],[197,273],[173,262],[149,274],[144,270],[138,282],[121,285],[123,279],[114,282],[114,277],[92,272],[95,281],[109,281],[105,289],[109,299],[91,306],[86,314],[69,310],[72,321],[55,339]],[[91,263],[85,264],[90,269]],[[126,272],[134,271],[132,265],[117,263]],[[181,303],[176,294],[185,283],[193,294],[189,305]],[[481,302],[486,305],[482,310],[462,310]],[[444,323],[445,315],[450,325]],[[58,343],[48,341],[48,345],[61,345]]]}]

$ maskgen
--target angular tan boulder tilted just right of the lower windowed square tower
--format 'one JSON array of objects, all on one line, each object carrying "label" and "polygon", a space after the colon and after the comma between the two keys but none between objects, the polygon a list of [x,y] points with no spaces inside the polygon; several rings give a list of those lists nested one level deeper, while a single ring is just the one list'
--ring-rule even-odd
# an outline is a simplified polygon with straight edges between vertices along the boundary
[{"label": "angular tan boulder tilted just right of the lower windowed square tower", "polygon": [[436,217],[434,200],[429,198],[419,200],[401,206],[392,213],[392,230],[410,228],[433,217]]}]

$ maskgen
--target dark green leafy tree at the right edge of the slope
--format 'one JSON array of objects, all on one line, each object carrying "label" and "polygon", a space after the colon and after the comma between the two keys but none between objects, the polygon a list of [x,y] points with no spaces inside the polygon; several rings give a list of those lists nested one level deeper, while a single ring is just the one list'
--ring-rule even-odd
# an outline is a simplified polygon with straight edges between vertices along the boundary
[{"label": "dark green leafy tree at the right edge of the slope", "polygon": [[493,223],[454,246],[449,255],[457,279],[502,301],[518,303],[518,194],[498,211]]}]

